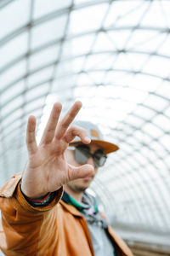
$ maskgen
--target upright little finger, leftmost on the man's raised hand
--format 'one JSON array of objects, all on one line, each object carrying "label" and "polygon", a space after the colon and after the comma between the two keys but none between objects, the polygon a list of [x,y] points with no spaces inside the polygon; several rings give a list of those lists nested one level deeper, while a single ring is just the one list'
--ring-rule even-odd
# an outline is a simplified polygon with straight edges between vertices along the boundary
[{"label": "upright little finger, leftmost on the man's raised hand", "polygon": [[26,146],[29,154],[34,154],[37,151],[36,118],[34,116],[30,116],[28,119],[26,131]]}]

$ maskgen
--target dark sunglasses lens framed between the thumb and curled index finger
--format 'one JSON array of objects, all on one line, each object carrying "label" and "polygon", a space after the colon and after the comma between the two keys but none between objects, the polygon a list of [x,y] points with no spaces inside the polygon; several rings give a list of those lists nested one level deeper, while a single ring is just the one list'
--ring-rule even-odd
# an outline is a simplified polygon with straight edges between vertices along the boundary
[{"label": "dark sunglasses lens framed between the thumb and curled index finger", "polygon": [[79,164],[85,164],[90,157],[90,148],[88,146],[80,145],[75,149],[75,160]]}]

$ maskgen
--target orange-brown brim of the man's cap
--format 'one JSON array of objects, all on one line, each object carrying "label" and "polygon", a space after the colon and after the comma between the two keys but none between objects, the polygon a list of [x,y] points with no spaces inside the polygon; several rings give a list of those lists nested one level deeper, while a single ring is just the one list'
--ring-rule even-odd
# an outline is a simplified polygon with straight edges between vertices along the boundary
[{"label": "orange-brown brim of the man's cap", "polygon": [[[77,140],[75,142],[72,142],[71,145],[76,144],[76,143],[82,143],[81,140]],[[118,146],[116,146],[116,144],[113,143],[108,143],[102,140],[91,140],[91,143],[97,144],[99,146],[101,146],[102,148],[104,148],[104,153],[105,154],[110,154],[111,152],[115,152],[116,150],[119,149]]]}]

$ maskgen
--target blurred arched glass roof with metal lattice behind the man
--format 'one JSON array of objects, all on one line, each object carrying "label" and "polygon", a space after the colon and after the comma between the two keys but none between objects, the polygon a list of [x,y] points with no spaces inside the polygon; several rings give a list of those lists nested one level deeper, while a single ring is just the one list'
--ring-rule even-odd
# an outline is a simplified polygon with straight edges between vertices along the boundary
[{"label": "blurred arched glass roof with metal lattice behind the man", "polygon": [[[0,1],[0,185],[54,102],[120,150],[91,185],[134,255],[170,255],[170,1]],[[3,254],[0,254],[3,255]]]}]

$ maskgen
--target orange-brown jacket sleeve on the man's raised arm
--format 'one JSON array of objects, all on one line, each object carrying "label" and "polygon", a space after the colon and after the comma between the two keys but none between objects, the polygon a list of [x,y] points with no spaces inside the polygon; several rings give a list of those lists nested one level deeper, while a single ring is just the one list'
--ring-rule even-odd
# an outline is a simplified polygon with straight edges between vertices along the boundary
[{"label": "orange-brown jacket sleeve on the man's raised arm", "polygon": [[14,175],[0,190],[0,248],[8,256],[33,256],[42,229],[49,228],[48,216],[54,214],[63,189],[56,191],[54,201],[47,207],[31,207],[20,191],[20,179],[21,173]]}]

